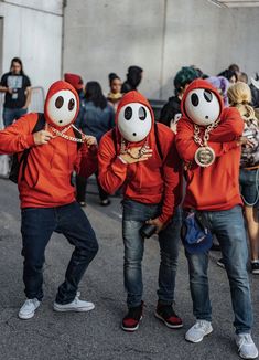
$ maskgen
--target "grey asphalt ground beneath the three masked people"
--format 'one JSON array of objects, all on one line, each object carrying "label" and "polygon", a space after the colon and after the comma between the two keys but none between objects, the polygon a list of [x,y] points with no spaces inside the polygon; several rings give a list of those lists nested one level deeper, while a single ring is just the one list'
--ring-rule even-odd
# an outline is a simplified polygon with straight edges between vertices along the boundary
[{"label": "grey asphalt ground beneath the three masked people", "polygon": [[[82,298],[95,303],[85,314],[53,311],[56,288],[63,282],[72,246],[54,234],[46,250],[44,300],[31,320],[20,320],[24,301],[20,235],[20,209],[15,184],[0,180],[0,359],[1,360],[231,360],[238,359],[234,342],[233,311],[225,271],[216,265],[218,253],[211,253],[209,280],[214,332],[197,345],[184,340],[194,324],[188,290],[187,263],[181,247],[176,278],[176,311],[184,327],[166,328],[154,318],[159,271],[157,237],[145,241],[143,282],[144,316],[139,330],[120,329],[126,314],[123,290],[120,199],[99,205],[95,183],[90,182],[85,212],[98,241],[99,253],[80,284]],[[259,276],[250,275],[255,309],[253,339],[259,345]]]}]

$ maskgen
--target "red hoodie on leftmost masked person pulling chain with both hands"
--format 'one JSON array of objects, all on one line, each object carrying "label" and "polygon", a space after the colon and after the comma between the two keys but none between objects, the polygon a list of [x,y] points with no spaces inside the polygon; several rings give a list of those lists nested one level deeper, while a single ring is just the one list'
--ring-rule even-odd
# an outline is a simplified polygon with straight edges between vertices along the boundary
[{"label": "red hoodie on leftmost masked person pulling chain with both hands", "polygon": [[[58,81],[54,83],[47,93],[44,117],[47,124],[55,127],[47,114],[47,102],[61,89],[68,89],[76,96],[75,88],[68,83]],[[77,112],[78,113],[78,112]],[[75,120],[77,113],[73,121]],[[71,184],[71,176],[74,170],[88,177],[96,171],[97,151],[88,150],[85,144],[77,150],[77,144],[63,137],[55,137],[47,144],[35,146],[33,128],[37,121],[37,114],[31,113],[22,116],[18,121],[0,131],[0,153],[14,153],[31,148],[24,179],[20,171],[18,188],[20,192],[21,208],[52,208],[68,204],[75,201],[75,188]],[[61,130],[61,127],[57,128]],[[66,135],[75,137],[71,128]]]}]

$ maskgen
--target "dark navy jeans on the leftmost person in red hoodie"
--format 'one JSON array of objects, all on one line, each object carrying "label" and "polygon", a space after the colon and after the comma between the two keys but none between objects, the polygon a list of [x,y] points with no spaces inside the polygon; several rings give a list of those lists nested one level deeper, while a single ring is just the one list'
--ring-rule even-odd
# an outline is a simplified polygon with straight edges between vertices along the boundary
[{"label": "dark navy jeans on the leftmost person in red hoodie", "polygon": [[43,298],[43,264],[45,247],[53,232],[65,235],[75,246],[66,269],[65,280],[58,287],[56,301],[74,300],[78,284],[98,251],[91,225],[77,202],[58,208],[22,209],[23,282],[28,298]]}]

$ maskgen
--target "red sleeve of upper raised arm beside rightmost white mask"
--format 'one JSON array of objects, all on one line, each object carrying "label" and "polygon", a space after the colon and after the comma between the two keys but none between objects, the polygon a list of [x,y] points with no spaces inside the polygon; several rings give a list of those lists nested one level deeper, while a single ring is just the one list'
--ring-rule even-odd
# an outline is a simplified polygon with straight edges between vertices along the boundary
[{"label": "red sleeve of upper raised arm beside rightmost white mask", "polygon": [[244,131],[244,120],[235,107],[223,110],[219,125],[209,133],[213,142],[230,142],[237,140]]}]

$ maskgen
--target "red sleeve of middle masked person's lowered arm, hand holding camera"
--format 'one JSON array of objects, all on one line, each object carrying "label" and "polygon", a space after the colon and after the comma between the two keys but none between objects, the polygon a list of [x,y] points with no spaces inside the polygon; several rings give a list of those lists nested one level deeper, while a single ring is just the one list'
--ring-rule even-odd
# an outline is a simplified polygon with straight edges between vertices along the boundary
[{"label": "red sleeve of middle masked person's lowered arm, hand holding camera", "polygon": [[159,126],[159,130],[161,149],[165,155],[162,167],[164,181],[163,205],[159,220],[166,223],[182,200],[182,163],[175,147],[174,134],[168,128],[163,129],[162,126]]}]

